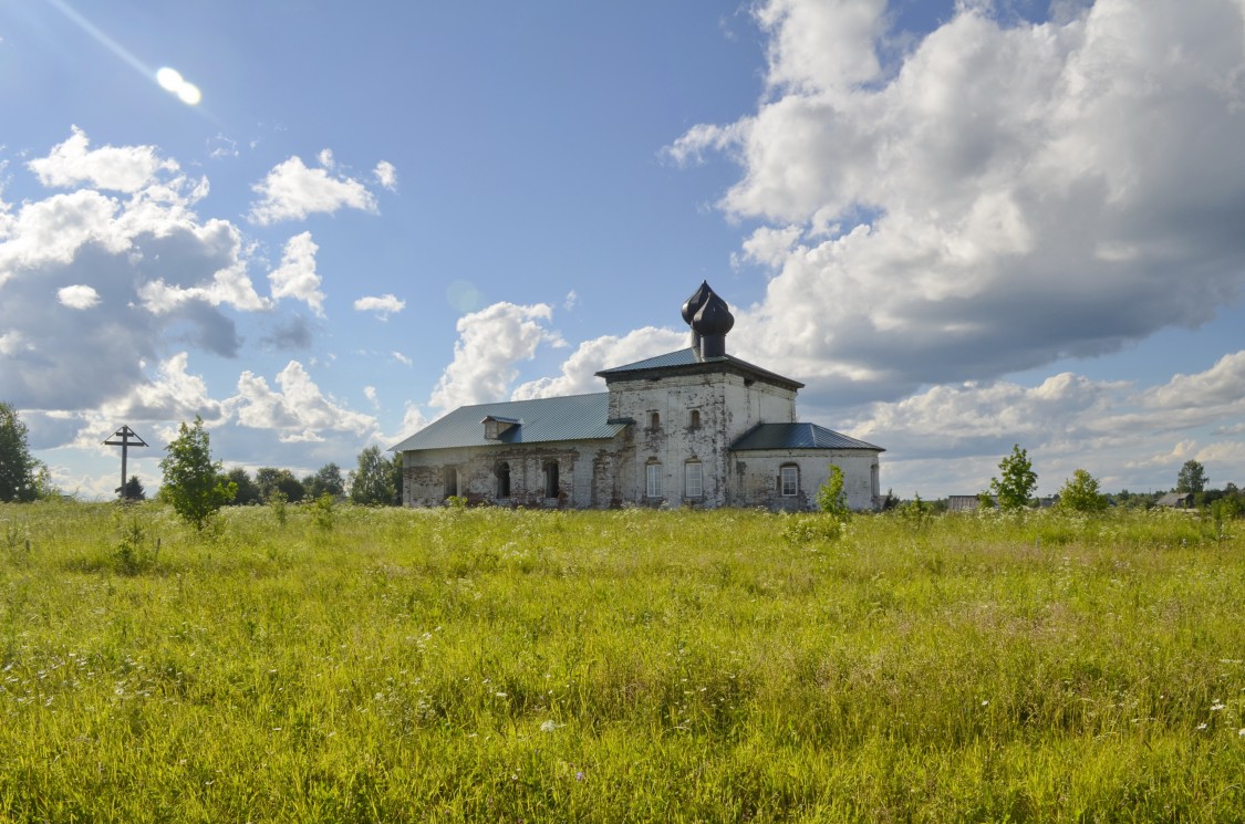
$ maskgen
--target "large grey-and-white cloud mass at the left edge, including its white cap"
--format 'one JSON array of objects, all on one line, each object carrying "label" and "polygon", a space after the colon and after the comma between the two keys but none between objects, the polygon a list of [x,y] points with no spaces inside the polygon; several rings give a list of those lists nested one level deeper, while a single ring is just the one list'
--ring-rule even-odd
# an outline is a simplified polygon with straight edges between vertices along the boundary
[{"label": "large grey-and-white cloud mass at the left edge, including its white cap", "polygon": [[37,183],[78,188],[24,197],[0,218],[6,401],[98,408],[146,386],[143,365],[188,344],[238,352],[235,317],[224,310],[268,302],[237,227],[194,213],[204,180],[184,178],[151,147],[90,149],[81,129],[26,168]]}]

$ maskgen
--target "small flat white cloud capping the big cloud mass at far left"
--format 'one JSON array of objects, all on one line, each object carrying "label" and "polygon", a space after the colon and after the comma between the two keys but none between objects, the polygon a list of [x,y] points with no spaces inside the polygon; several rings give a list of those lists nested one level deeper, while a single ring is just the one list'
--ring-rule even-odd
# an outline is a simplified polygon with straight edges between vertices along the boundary
[{"label": "small flat white cloud capping the big cloud mass at far left", "polygon": [[67,188],[87,183],[100,189],[138,192],[151,185],[161,172],[176,172],[173,161],[161,159],[153,146],[106,146],[90,149],[90,139],[77,126],[47,157],[27,166],[44,185]]}]

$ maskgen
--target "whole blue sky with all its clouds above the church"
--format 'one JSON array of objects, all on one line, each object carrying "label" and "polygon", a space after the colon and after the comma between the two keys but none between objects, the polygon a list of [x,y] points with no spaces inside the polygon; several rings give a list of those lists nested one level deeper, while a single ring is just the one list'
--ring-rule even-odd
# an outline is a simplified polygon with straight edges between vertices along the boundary
[{"label": "whole blue sky with all its clouds above the church", "polygon": [[350,469],[707,280],[899,497],[1245,484],[1243,146],[1245,0],[0,0],[0,401]]}]

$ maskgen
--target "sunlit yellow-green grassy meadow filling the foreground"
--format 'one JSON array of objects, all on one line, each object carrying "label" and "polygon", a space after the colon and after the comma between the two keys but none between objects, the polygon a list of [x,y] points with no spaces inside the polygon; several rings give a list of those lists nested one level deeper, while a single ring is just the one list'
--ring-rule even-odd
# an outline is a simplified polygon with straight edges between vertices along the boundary
[{"label": "sunlit yellow-green grassy meadow filling the foreground", "polygon": [[1241,822],[1241,528],[0,505],[0,820]]}]

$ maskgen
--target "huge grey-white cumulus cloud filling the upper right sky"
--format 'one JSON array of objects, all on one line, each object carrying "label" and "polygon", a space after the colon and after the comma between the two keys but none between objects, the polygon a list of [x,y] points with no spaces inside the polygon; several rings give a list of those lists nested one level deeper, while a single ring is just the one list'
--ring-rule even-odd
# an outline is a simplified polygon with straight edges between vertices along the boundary
[{"label": "huge grey-white cumulus cloud filling the upper right sky", "polygon": [[720,205],[762,223],[742,254],[772,278],[736,347],[812,396],[1102,355],[1245,289],[1245,9],[991,9],[888,62],[880,0],[764,2],[757,111],[667,149],[740,164]]}]

